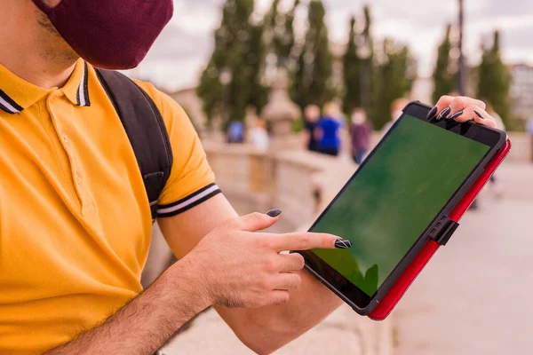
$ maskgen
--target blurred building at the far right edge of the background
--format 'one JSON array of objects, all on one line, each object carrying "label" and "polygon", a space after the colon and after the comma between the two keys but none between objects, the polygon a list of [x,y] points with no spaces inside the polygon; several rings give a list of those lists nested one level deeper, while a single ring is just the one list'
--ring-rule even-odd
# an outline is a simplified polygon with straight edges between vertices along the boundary
[{"label": "blurred building at the far right edge of the background", "polygon": [[517,64],[511,67],[511,73],[514,112],[523,118],[528,118],[533,115],[533,67]]}]

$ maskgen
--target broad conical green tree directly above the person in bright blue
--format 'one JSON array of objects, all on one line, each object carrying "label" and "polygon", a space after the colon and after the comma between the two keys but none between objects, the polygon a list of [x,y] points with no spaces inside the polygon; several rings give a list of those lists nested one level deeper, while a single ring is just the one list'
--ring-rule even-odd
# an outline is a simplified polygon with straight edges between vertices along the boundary
[{"label": "broad conical green tree directly above the person in bright blue", "polygon": [[306,40],[296,63],[290,94],[300,107],[323,105],[334,96],[330,81],[332,56],[322,0],[309,2]]}]

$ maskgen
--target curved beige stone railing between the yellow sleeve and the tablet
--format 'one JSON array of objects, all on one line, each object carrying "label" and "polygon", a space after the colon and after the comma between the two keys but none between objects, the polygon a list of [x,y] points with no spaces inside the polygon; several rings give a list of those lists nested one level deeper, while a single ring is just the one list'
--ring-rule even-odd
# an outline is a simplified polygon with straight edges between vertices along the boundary
[{"label": "curved beige stone railing between the yellow sleeve and the tablet", "polygon": [[[283,209],[283,221],[291,229],[312,221],[323,202],[330,201],[329,187],[338,191],[346,181],[339,170],[347,178],[355,167],[349,161],[299,150],[260,153],[247,145],[213,142],[205,142],[204,149],[217,184],[240,213]],[[340,185],[327,177],[336,177]]]}]

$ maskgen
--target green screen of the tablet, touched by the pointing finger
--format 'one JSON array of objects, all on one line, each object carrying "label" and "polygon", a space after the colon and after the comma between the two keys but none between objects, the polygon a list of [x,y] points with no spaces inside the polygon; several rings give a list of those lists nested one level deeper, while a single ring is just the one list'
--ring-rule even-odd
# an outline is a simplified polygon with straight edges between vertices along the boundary
[{"label": "green screen of the tablet, touched by the pointing finger", "polygon": [[488,151],[404,116],[313,228],[352,241],[352,248],[314,253],[374,295]]}]

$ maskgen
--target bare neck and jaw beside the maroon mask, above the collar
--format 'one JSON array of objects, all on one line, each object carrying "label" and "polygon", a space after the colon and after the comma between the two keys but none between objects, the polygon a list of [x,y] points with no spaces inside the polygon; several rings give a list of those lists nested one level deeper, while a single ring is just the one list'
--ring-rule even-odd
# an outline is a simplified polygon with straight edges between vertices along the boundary
[{"label": "bare neck and jaw beside the maroon mask, above the collar", "polygon": [[0,51],[0,64],[36,86],[62,87],[74,70],[76,53],[33,3],[17,0],[6,5],[0,13],[0,43],[9,51]]}]

